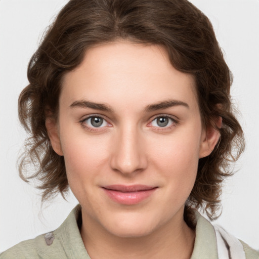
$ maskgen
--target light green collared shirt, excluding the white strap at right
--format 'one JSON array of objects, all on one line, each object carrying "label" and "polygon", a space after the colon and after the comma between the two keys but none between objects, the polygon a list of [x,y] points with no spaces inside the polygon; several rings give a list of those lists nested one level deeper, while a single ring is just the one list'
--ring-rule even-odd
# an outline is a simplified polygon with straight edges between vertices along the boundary
[{"label": "light green collared shirt, excluding the white strap at right", "polygon": [[[91,259],[77,226],[80,213],[81,207],[77,205],[58,229],[13,246],[0,254],[0,259]],[[213,226],[199,213],[196,213],[196,220],[196,237],[190,259],[218,259]],[[245,243],[242,244],[247,259],[259,259],[258,252]]]}]

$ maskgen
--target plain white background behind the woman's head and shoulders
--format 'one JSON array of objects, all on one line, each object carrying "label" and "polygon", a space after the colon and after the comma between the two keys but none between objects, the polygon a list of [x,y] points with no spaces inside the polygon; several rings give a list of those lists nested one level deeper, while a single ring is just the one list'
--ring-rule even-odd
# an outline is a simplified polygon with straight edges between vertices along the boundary
[{"label": "plain white background behind the woman's head and shoulders", "polygon": [[[217,224],[259,249],[259,1],[192,0],[211,20],[234,74],[246,150],[239,171],[225,183]],[[40,207],[40,193],[18,176],[16,160],[26,137],[17,100],[27,85],[28,61],[40,36],[67,0],[0,0],[0,252],[56,229],[77,204],[58,196]]]}]

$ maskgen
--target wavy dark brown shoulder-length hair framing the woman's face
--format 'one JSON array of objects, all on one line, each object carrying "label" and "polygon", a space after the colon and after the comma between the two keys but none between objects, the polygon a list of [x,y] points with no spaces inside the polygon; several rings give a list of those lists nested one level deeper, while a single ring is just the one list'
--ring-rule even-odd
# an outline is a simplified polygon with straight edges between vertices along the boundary
[{"label": "wavy dark brown shoulder-length hair framing the woman's face", "polygon": [[[19,97],[19,118],[30,138],[19,172],[23,180],[39,181],[42,201],[68,190],[63,156],[51,146],[46,114],[58,115],[64,74],[77,67],[90,47],[126,39],[162,46],[172,66],[192,74],[203,126],[212,125],[221,138],[212,153],[199,160],[195,185],[186,202],[217,217],[222,181],[232,174],[231,162],[244,149],[235,118],[230,86],[232,74],[209,19],[187,0],[71,0],[49,27],[28,65],[29,85]],[[222,117],[218,128],[215,120]],[[33,175],[25,166],[36,166]]]}]

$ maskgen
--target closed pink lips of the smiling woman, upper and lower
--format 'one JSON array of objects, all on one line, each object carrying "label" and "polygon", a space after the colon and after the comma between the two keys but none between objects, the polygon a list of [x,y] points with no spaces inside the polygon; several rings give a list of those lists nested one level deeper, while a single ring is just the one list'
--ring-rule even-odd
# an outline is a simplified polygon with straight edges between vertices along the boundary
[{"label": "closed pink lips of the smiling woman, upper and lower", "polygon": [[147,199],[157,187],[147,185],[109,185],[103,187],[105,193],[114,201],[133,205]]}]

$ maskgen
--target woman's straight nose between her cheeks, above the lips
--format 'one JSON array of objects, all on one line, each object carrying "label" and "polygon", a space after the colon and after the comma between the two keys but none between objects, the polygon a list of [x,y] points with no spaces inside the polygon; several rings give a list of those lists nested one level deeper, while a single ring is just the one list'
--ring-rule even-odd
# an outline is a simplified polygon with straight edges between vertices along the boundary
[{"label": "woman's straight nose between her cheeks, above the lips", "polygon": [[125,126],[112,143],[110,164],[113,170],[132,176],[147,167],[143,133],[131,126]]}]

